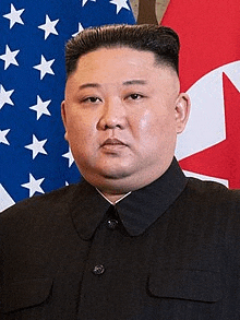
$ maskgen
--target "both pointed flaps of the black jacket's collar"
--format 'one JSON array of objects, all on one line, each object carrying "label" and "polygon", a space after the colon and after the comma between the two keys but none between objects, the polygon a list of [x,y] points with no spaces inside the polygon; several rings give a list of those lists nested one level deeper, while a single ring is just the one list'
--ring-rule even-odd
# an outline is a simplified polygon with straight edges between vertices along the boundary
[{"label": "both pointed flaps of the black jacket's collar", "polygon": [[[187,178],[176,158],[167,171],[151,185],[131,192],[116,204],[119,217],[131,236],[145,232],[180,195]],[[88,182],[82,182],[71,204],[73,224],[83,239],[89,239],[103,221],[109,202]]]}]

